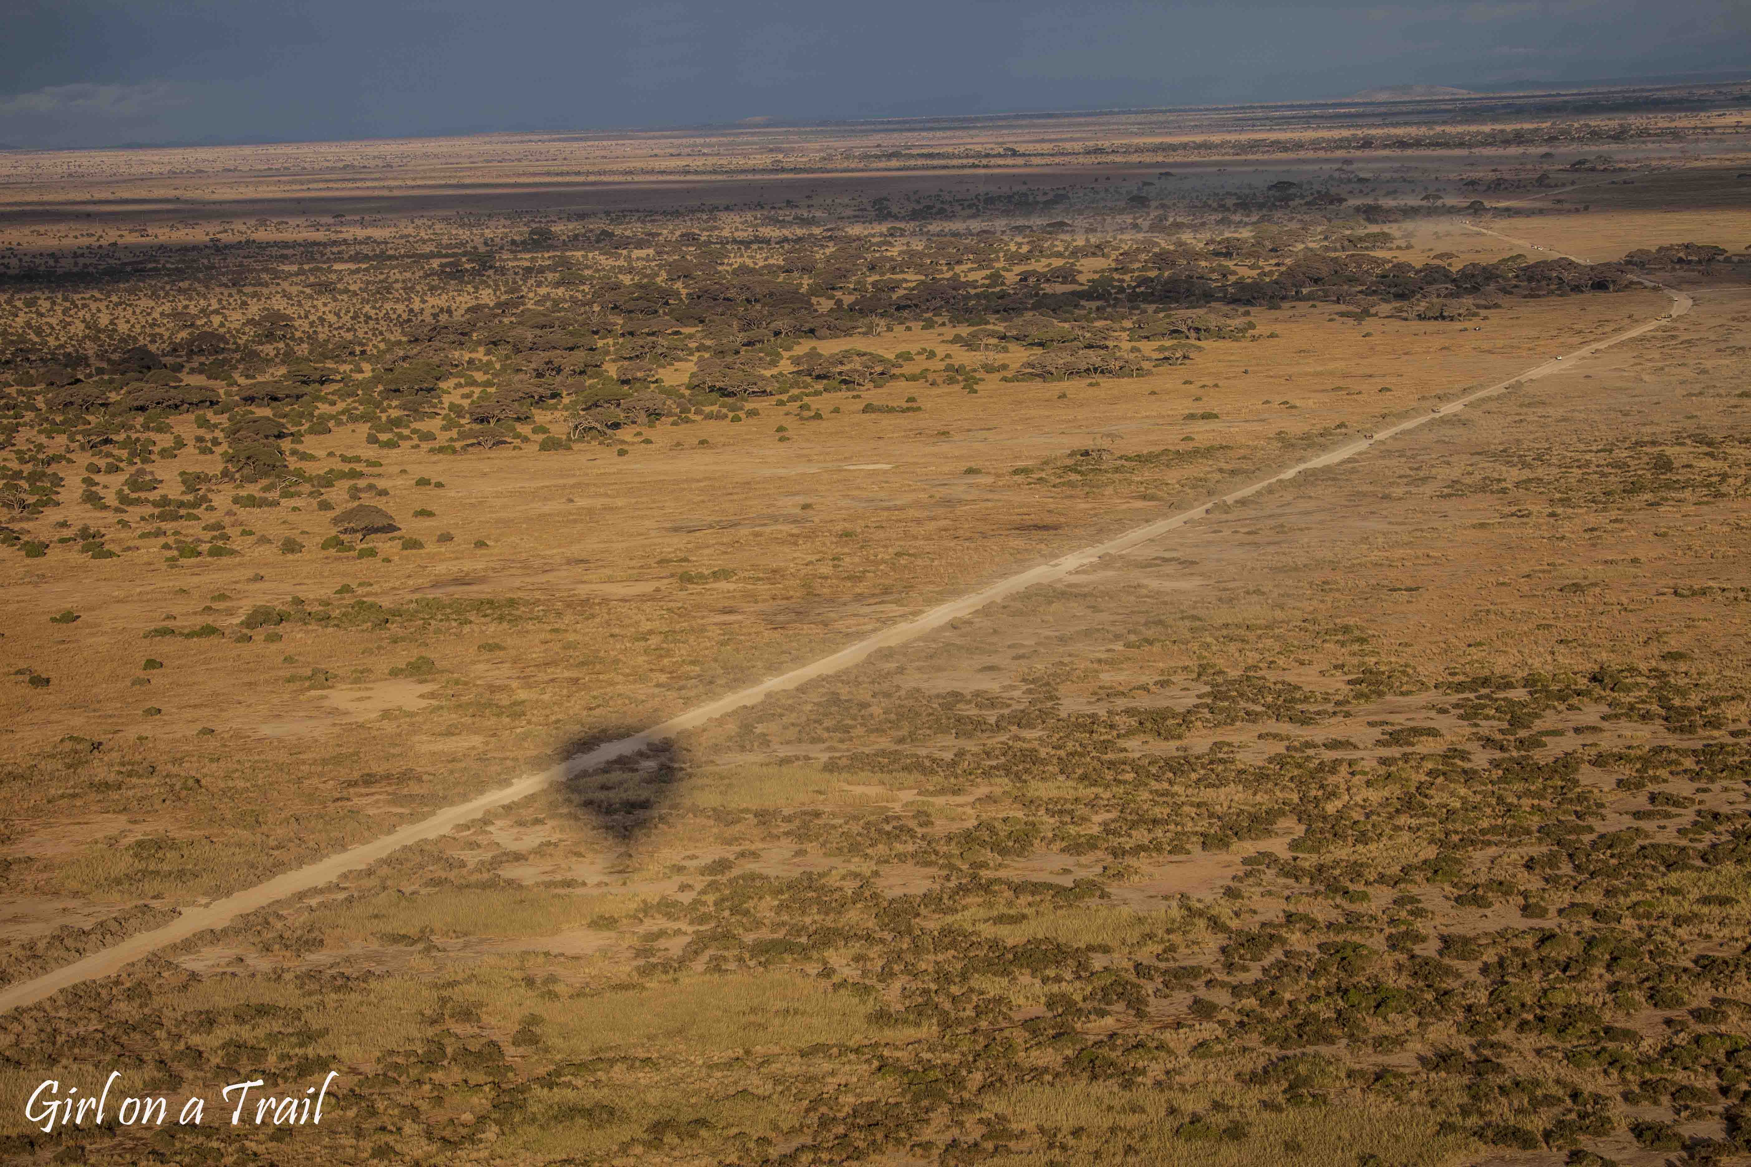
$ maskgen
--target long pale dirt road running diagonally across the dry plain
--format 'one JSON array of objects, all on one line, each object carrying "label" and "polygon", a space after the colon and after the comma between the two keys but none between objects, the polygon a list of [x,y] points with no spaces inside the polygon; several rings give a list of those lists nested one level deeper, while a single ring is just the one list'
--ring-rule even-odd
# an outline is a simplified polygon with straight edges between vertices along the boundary
[{"label": "long pale dirt road running diagonally across the dry plain", "polygon": [[[1485,231],[1483,227],[1473,227],[1473,229],[1483,231],[1485,234],[1497,234],[1495,231]],[[1499,238],[1508,240],[1509,236],[1502,234]],[[1532,243],[1527,243],[1523,240],[1509,240],[1509,241],[1518,247],[1534,247]],[[1557,252],[1550,254],[1555,255]],[[1649,287],[1660,287],[1662,290],[1665,290],[1672,297],[1672,310],[1655,320],[1639,324],[1625,332],[1618,332],[1602,341],[1595,341],[1583,348],[1576,348],[1571,353],[1564,353],[1564,357],[1571,362],[1579,357],[1588,357],[1599,352],[1600,348],[1607,348],[1620,341],[1627,341],[1634,336],[1649,332],[1660,327],[1670,317],[1679,317],[1690,311],[1691,306],[1690,296],[1684,296],[1683,292],[1677,292],[1660,283],[1651,283],[1648,280],[1642,280],[1642,283],[1648,283]],[[1473,402],[1485,401],[1487,397],[1495,397],[1497,394],[1502,394],[1525,381],[1532,381],[1541,376],[1558,373],[1565,367],[1569,369],[1574,367],[1572,364],[1558,364],[1558,360],[1560,359],[1546,360],[1544,364],[1527,369],[1525,373],[1511,380],[1490,385],[1488,388],[1480,388],[1478,392],[1467,394],[1466,397],[1460,397],[1452,404],[1445,404],[1439,408],[1439,413],[1425,413],[1408,422],[1399,422],[1397,425],[1376,430],[1371,439],[1355,441],[1340,450],[1333,450],[1331,453],[1322,453],[1317,458],[1308,458],[1306,462],[1294,465],[1280,474],[1257,481],[1233,493],[1222,495],[1220,499],[1212,499],[1210,502],[1192,507],[1191,511],[1182,511],[1180,514],[1157,520],[1145,527],[1129,530],[1119,535],[1117,539],[1108,539],[1107,542],[1086,548],[1073,555],[1066,555],[1063,558],[1052,560],[1051,563],[1042,563],[1038,567],[1024,570],[1019,576],[1010,576],[1009,579],[995,583],[989,588],[974,591],[972,595],[961,597],[960,600],[953,600],[949,604],[944,604],[942,607],[932,609],[923,616],[918,616],[916,619],[895,625],[886,632],[877,632],[876,635],[865,640],[858,640],[851,647],[840,649],[832,656],[825,656],[814,661],[812,665],[804,665],[802,668],[791,670],[781,677],[774,677],[753,688],[742,689],[741,693],[732,693],[730,696],[711,702],[709,705],[700,705],[699,709],[685,712],[679,717],[665,721],[658,726],[651,726],[643,733],[636,733],[629,738],[620,738],[618,742],[599,745],[587,754],[578,754],[576,758],[571,758],[553,766],[552,770],[545,770],[541,773],[532,773],[525,779],[520,779],[518,782],[513,782],[504,789],[492,791],[490,794],[482,794],[480,798],[462,803],[459,807],[440,810],[429,819],[424,819],[411,826],[404,826],[399,831],[385,835],[376,842],[364,843],[350,850],[343,850],[336,856],[329,856],[327,859],[313,863],[306,868],[287,871],[285,875],[271,878],[266,884],[259,884],[247,891],[240,891],[235,896],[226,896],[224,899],[217,899],[207,906],[184,908],[182,915],[173,924],[166,924],[165,927],[158,927],[149,933],[140,933],[138,936],[131,936],[112,948],[105,948],[103,952],[91,954],[82,961],[75,961],[74,964],[60,968],[53,973],[46,973],[33,980],[19,982],[18,985],[11,985],[0,990],[0,1011],[12,1010],[23,1004],[33,1004],[37,1001],[42,1001],[44,997],[60,992],[61,989],[67,989],[68,985],[77,985],[79,982],[95,980],[98,976],[109,976],[110,973],[121,969],[124,964],[138,961],[140,957],[156,952],[158,948],[173,945],[175,941],[194,936],[196,933],[224,927],[240,915],[256,912],[257,908],[264,908],[275,903],[277,899],[284,899],[287,896],[294,896],[298,892],[305,892],[313,887],[329,884],[340,875],[369,866],[371,863],[376,863],[383,856],[401,847],[406,847],[408,843],[417,843],[420,840],[445,835],[454,826],[468,822],[469,819],[475,819],[480,814],[492,810],[494,807],[503,807],[506,803],[517,801],[518,798],[534,794],[536,791],[552,786],[553,782],[559,782],[562,779],[567,779],[574,773],[590,770],[594,766],[601,766],[602,763],[611,761],[615,758],[637,752],[653,742],[671,737],[681,730],[690,730],[693,726],[704,724],[713,717],[718,717],[720,714],[730,712],[732,709],[741,709],[742,705],[753,705],[755,702],[762,700],[767,693],[779,693],[783,689],[791,689],[805,681],[812,681],[814,677],[825,677],[828,674],[839,672],[840,668],[849,668],[851,665],[856,665],[858,661],[867,658],[876,649],[883,649],[891,644],[905,644],[907,640],[925,635],[932,628],[940,628],[942,625],[953,619],[960,619],[968,612],[975,612],[986,604],[1002,600],[1003,597],[1014,595],[1023,588],[1031,588],[1035,584],[1063,579],[1070,572],[1087,567],[1103,555],[1112,555],[1115,551],[1128,551],[1129,548],[1135,548],[1142,542],[1149,542],[1150,539],[1159,539],[1161,535],[1178,530],[1185,523],[1201,518],[1210,511],[1212,506],[1245,499],[1247,495],[1257,493],[1259,490],[1264,490],[1273,483],[1294,478],[1303,471],[1311,471],[1315,467],[1343,462],[1345,458],[1354,458],[1376,441],[1385,441],[1397,434],[1404,434],[1406,430],[1413,430],[1418,425],[1425,425],[1427,422],[1436,420],[1436,416],[1450,416]]]}]

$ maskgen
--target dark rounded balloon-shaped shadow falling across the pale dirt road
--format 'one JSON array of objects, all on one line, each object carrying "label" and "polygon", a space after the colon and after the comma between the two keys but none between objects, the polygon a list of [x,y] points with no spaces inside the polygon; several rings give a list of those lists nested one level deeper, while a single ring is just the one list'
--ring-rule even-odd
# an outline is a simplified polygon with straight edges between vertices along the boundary
[{"label": "dark rounded balloon-shaped shadow falling across the pale dirt road", "polygon": [[553,751],[566,766],[555,791],[578,822],[630,861],[674,803],[692,770],[672,738],[651,740],[636,726],[608,726],[567,738]]}]

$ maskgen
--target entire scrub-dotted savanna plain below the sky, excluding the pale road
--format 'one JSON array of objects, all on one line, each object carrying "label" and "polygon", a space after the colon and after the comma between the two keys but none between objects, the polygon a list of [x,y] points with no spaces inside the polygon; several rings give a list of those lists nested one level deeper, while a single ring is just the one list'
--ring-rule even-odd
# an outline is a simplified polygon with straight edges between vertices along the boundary
[{"label": "entire scrub-dotted savanna plain below the sky, excluding the pale road", "polygon": [[1751,1155],[1746,103],[0,154],[7,985],[1693,299],[0,1015],[5,1157]]}]

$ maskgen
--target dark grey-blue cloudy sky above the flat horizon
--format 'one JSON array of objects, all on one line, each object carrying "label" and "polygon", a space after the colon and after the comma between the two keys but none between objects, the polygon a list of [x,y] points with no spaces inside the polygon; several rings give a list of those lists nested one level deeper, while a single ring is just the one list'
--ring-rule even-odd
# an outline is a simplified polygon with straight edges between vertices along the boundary
[{"label": "dark grey-blue cloudy sky above the flat horizon", "polygon": [[0,0],[0,145],[1751,75],[1746,0]]}]

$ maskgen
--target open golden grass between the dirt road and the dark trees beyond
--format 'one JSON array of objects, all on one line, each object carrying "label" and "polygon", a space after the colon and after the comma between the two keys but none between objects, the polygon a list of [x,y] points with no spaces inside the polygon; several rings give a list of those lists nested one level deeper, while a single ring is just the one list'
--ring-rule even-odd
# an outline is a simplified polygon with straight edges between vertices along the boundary
[{"label": "open golden grass between the dirt road and the dark trees beyond", "polygon": [[[1107,380],[1093,388],[986,383],[979,395],[907,385],[907,394],[925,402],[925,415],[840,415],[786,444],[753,425],[737,425],[714,429],[707,450],[634,446],[639,453],[632,457],[595,462],[588,450],[452,458],[396,451],[399,457],[385,464],[394,472],[380,479],[392,490],[389,506],[397,516],[417,506],[438,516],[406,520],[427,551],[389,548],[378,560],[312,549],[186,567],[138,562],[152,551],[109,563],[68,556],[26,562],[25,586],[9,590],[0,602],[16,628],[7,646],[14,660],[51,674],[54,684],[0,691],[0,712],[14,728],[12,747],[40,751],[65,735],[102,738],[105,752],[135,749],[142,761],[151,754],[151,765],[165,775],[173,768],[179,780],[154,777],[142,789],[137,779],[121,779],[119,789],[91,794],[86,780],[72,773],[65,784],[44,786],[39,770],[18,805],[16,829],[28,833],[32,824],[53,821],[65,831],[72,826],[61,814],[67,798],[84,812],[102,805],[124,819],[88,819],[89,854],[65,877],[44,884],[46,891],[170,898],[231,891],[275,866],[275,849],[263,854],[231,842],[242,817],[285,822],[285,814],[298,808],[305,815],[298,838],[277,845],[287,859],[380,831],[422,807],[457,801],[539,766],[580,730],[637,728],[672,716],[821,656],[998,570],[1143,521],[1171,499],[1215,488],[1224,472],[1243,476],[1247,467],[1268,469],[1299,457],[1275,434],[1322,434],[1336,423],[1361,430],[1380,416],[1383,401],[1413,404],[1480,376],[1506,374],[1551,345],[1574,343],[1565,332],[1595,324],[1606,308],[1618,317],[1656,304],[1653,292],[1627,292],[1599,304],[1586,297],[1529,303],[1490,313],[1485,332],[1380,324],[1368,339],[1355,336],[1368,329],[1329,324],[1310,310],[1268,313],[1278,339],[1210,345],[1196,369],[1175,371],[1194,373],[1191,387],[1178,385],[1184,376],[1159,374]],[[870,345],[918,345],[904,336]],[[1462,339],[1452,343],[1455,338]],[[1331,353],[1324,357],[1329,364],[1301,352],[1310,346]],[[1329,392],[1334,385],[1366,392]],[[1382,385],[1394,392],[1378,394]],[[1070,401],[1059,401],[1059,392],[1068,392]],[[865,401],[900,397],[893,387],[863,394]],[[1285,399],[1299,409],[1275,404]],[[856,408],[849,399],[846,404]],[[1180,423],[1180,413],[1192,406],[1212,408],[1224,420]],[[937,427],[951,437],[937,436]],[[1093,490],[1035,486],[1007,472],[1051,462],[1103,432],[1117,432],[1112,448],[1131,453],[1180,448],[1184,430],[1227,450],[1208,471],[1168,471],[1145,483],[1121,479]],[[1317,441],[1343,436],[1340,430]],[[343,441],[334,444],[348,451]],[[364,444],[355,450],[371,451]],[[180,469],[186,458],[175,465]],[[840,469],[874,460],[893,469]],[[961,474],[967,465],[984,474]],[[445,488],[411,486],[418,476],[438,478]],[[804,504],[811,509],[802,511]],[[291,534],[313,546],[324,516],[306,516],[294,506],[235,521],[249,521],[250,530],[275,541]],[[79,518],[77,506],[65,509],[68,520]],[[683,530],[699,516],[709,516],[713,528]],[[774,516],[786,521],[774,523]],[[790,523],[791,516],[807,523]],[[438,530],[452,530],[455,542],[436,544]],[[555,530],[580,534],[555,542]],[[967,530],[986,537],[967,541]],[[490,546],[471,548],[476,537]],[[611,556],[597,551],[609,544]],[[588,562],[571,567],[580,551]],[[664,563],[676,558],[688,562]],[[720,567],[737,576],[690,588],[676,579],[681,570]],[[254,579],[257,574],[264,577]],[[627,579],[641,581],[639,590],[616,593]],[[341,586],[355,591],[334,595]],[[210,600],[214,595],[228,598]],[[466,614],[457,602],[515,597],[527,616],[515,614],[518,623],[510,625],[483,625],[476,616],[471,625],[434,623],[371,635],[282,626],[273,644],[261,633],[252,644],[142,639],[170,616],[177,628],[208,621],[229,628],[256,604],[284,605],[294,595],[336,607],[357,597],[385,605],[438,600],[457,616]],[[709,605],[706,619],[697,618],[700,605]],[[49,623],[63,609],[77,611],[79,623]],[[1247,618],[1247,611],[1266,614],[1257,605],[1234,614]],[[483,644],[503,651],[482,653]],[[147,656],[165,667],[142,672]],[[440,684],[364,688],[385,682],[389,668],[415,656],[436,661]],[[313,667],[333,672],[336,688],[287,684],[308,677]],[[581,700],[574,686],[557,681],[566,675],[585,681],[588,693]],[[151,686],[135,686],[137,679]],[[345,712],[354,696],[366,698],[364,709],[390,707],[354,716]],[[144,717],[147,707],[163,712]],[[203,728],[217,735],[198,738]],[[151,744],[130,745],[130,737]],[[275,765],[233,765],[259,758],[264,745]],[[287,787],[278,780],[284,773],[298,779]],[[392,777],[350,791],[361,775]],[[205,793],[191,789],[191,779]],[[103,775],[98,782],[117,779]],[[348,801],[334,803],[336,794]],[[35,807],[53,819],[40,817]],[[327,826],[317,826],[324,821]],[[152,835],[180,840],[203,822],[210,828],[201,838],[179,842],[187,861],[159,868],[166,875],[142,871],[151,864],[119,849]],[[77,856],[42,847],[35,852],[46,878]]]}]

